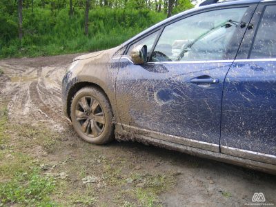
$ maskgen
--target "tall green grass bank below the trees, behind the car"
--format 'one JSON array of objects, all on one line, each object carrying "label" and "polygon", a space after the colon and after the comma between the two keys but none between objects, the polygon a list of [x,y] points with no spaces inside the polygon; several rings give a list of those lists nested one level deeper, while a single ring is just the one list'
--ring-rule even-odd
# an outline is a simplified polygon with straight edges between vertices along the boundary
[{"label": "tall green grass bank below the trees, behind the car", "polygon": [[146,9],[95,8],[89,12],[89,35],[86,36],[83,9],[76,10],[72,18],[68,17],[66,8],[56,14],[47,8],[37,8],[33,13],[23,10],[23,13],[23,39],[19,41],[17,35],[12,35],[17,30],[12,34],[5,31],[3,35],[6,38],[0,38],[0,58],[61,55],[113,48],[166,18],[163,12]]}]

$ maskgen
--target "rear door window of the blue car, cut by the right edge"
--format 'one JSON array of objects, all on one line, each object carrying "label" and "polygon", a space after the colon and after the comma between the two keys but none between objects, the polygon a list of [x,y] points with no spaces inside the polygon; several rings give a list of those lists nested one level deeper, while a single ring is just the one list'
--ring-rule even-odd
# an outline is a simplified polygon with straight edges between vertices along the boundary
[{"label": "rear door window of the blue car, cut by the right edge", "polygon": [[253,43],[250,59],[276,57],[276,6],[266,6]]}]

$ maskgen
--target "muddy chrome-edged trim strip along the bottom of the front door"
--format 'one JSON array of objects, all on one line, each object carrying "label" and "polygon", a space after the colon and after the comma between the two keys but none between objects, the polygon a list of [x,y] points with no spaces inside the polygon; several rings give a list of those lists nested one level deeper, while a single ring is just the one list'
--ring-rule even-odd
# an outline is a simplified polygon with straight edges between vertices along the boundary
[{"label": "muddy chrome-edged trim strip along the bottom of the front door", "polygon": [[194,139],[187,139],[184,137],[177,137],[175,135],[166,135],[164,133],[155,132],[151,130],[146,130],[142,128],[138,128],[135,126],[128,126],[126,124],[122,124],[123,128],[128,132],[133,132],[138,135],[144,135],[146,137],[152,137],[154,139],[161,139],[163,141],[169,141],[177,144],[183,144],[185,146],[191,146],[194,148],[200,148],[204,150],[209,150],[212,152],[219,152],[219,145],[212,144],[204,141],[198,141]]}]

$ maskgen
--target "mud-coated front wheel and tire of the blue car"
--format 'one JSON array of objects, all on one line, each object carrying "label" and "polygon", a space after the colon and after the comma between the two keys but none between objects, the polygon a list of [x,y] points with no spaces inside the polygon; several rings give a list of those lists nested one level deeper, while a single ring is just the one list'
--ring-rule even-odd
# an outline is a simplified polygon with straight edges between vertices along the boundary
[{"label": "mud-coated front wheel and tire of the blue car", "polygon": [[101,90],[81,88],[72,99],[70,112],[81,139],[92,144],[106,144],[114,139],[112,108]]}]

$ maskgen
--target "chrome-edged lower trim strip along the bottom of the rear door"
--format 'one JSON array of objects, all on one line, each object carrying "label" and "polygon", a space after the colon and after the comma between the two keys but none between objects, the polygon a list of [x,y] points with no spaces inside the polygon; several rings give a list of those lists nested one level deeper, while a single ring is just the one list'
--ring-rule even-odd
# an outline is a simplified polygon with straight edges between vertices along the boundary
[{"label": "chrome-edged lower trim strip along the bottom of the rear door", "polygon": [[261,152],[253,152],[249,150],[231,148],[228,146],[221,146],[221,153],[235,156],[235,157],[243,157],[244,159],[252,159],[252,160],[262,161],[268,164],[276,165],[276,156],[267,155]]}]

